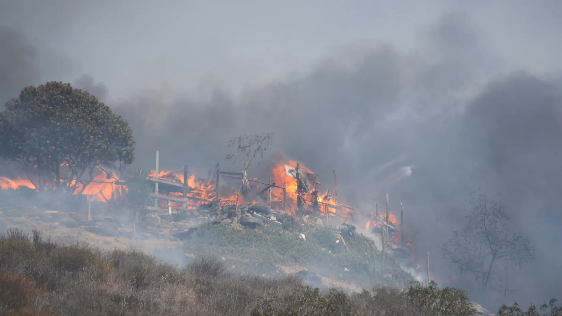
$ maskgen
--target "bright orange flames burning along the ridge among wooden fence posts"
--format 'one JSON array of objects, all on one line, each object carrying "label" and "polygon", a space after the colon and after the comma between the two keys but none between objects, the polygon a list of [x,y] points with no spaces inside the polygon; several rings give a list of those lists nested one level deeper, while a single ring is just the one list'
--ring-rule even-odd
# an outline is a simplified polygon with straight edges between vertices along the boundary
[{"label": "bright orange flames burning along the ridge among wooden fence posts", "polygon": [[[220,188],[220,204],[235,204],[238,205],[248,205],[256,204],[258,202],[267,202],[272,208],[277,210],[285,210],[289,214],[297,214],[297,196],[299,195],[297,180],[288,174],[286,166],[290,168],[297,168],[301,173],[312,173],[312,170],[306,168],[302,163],[297,161],[286,161],[279,164],[274,164],[271,166],[271,177],[269,182],[274,184],[275,187],[271,187],[270,191],[262,192],[260,196],[257,195],[247,195],[246,197],[239,194],[238,190],[234,187],[232,188]],[[87,195],[90,201],[102,201],[110,202],[115,198],[126,196],[126,186],[123,186],[119,175],[117,172],[112,170],[105,170],[98,168],[98,174],[93,178],[87,187],[82,192],[83,195]],[[149,172],[149,177],[155,178],[156,171],[151,170]],[[171,171],[171,170],[161,170],[158,172],[158,179],[167,180],[173,183],[185,184],[184,175],[182,172]],[[15,179],[10,179],[6,177],[0,177],[0,188],[1,189],[18,189],[21,187],[27,187],[29,189],[35,189],[35,182],[26,179],[25,177],[18,177]],[[67,183],[63,184],[67,185]],[[71,183],[74,184],[74,183]],[[187,186],[188,192],[184,196],[180,192],[158,192],[165,193],[167,196],[184,198],[187,197],[187,207],[193,209],[198,205],[209,203],[216,197],[216,179],[213,173],[210,173],[207,179],[196,178],[193,174],[188,174]],[[257,188],[262,191],[267,186],[264,183],[256,183],[250,180],[250,186]],[[283,192],[283,187],[285,187],[285,193]],[[82,186],[78,184],[76,186],[76,192],[81,192]],[[316,213],[319,216],[324,217],[330,221],[330,219],[337,218],[341,222],[348,222],[355,209],[350,206],[338,204],[336,196],[332,196],[329,193],[329,189],[320,191],[320,183],[314,181],[314,186],[307,187],[305,190],[301,190],[302,204],[301,208],[309,210],[312,213]],[[248,199],[246,201],[245,199]],[[257,201],[260,200],[260,201]],[[166,200],[166,198],[160,199],[160,204],[158,205],[162,209],[173,208],[180,209],[185,205],[183,202]],[[381,216],[384,220],[384,214]],[[389,213],[389,223],[396,224],[396,216],[393,213]],[[368,222],[365,227],[369,227],[374,223]]]}]

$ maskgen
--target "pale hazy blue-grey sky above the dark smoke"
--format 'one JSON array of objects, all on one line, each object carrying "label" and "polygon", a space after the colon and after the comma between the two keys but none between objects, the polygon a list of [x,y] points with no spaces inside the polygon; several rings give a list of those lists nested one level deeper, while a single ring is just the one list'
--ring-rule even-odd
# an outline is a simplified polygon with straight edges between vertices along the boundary
[{"label": "pale hazy blue-grey sky above the dark smoke", "polygon": [[407,50],[444,12],[460,10],[502,62],[560,69],[559,1],[76,1],[0,2],[0,24],[72,61],[126,97],[139,89],[239,91],[310,68],[334,47],[388,42]]}]

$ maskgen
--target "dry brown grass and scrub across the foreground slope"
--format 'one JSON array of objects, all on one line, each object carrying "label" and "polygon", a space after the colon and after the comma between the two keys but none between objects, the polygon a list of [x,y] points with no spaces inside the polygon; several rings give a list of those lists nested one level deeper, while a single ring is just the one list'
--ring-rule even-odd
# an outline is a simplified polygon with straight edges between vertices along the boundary
[{"label": "dry brown grass and scrub across the foreground slope", "polygon": [[57,245],[18,230],[0,236],[0,315],[6,316],[445,316],[451,304],[465,303],[455,293],[436,287],[321,293],[293,276],[234,275],[209,256],[180,269],[133,249]]}]

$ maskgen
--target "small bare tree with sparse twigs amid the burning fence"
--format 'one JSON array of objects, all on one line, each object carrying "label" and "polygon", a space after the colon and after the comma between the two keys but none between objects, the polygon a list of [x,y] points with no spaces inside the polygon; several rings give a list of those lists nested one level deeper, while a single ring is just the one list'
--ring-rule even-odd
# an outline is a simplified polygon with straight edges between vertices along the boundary
[{"label": "small bare tree with sparse twigs amid the burning fence", "polygon": [[241,157],[246,161],[242,167],[242,186],[240,188],[242,196],[246,196],[248,191],[250,191],[247,176],[248,168],[252,161],[256,159],[256,156],[264,157],[264,152],[268,148],[271,136],[273,136],[271,132],[253,136],[242,135],[228,141],[228,147],[232,148],[232,152],[226,155],[225,160],[236,162],[236,158]]}]

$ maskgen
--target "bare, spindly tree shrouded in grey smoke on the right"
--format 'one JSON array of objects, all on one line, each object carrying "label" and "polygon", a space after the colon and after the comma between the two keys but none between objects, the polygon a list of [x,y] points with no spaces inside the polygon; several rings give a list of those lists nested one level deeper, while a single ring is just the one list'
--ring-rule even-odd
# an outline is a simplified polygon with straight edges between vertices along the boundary
[{"label": "bare, spindly tree shrouded in grey smoke on the right", "polygon": [[498,265],[521,267],[534,260],[534,246],[530,238],[511,231],[500,201],[473,192],[468,202],[472,210],[465,216],[465,226],[443,245],[443,257],[487,288]]}]

